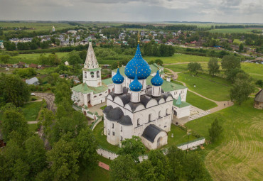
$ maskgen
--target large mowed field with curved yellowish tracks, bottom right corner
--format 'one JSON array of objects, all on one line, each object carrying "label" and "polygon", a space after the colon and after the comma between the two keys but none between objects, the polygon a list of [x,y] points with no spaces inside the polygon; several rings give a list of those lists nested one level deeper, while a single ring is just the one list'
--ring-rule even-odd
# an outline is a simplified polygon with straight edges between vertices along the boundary
[{"label": "large mowed field with curved yellowish tracks, bottom right corner", "polygon": [[215,119],[224,128],[220,141],[205,148],[205,165],[213,180],[262,180],[263,111],[254,109],[253,102],[249,99],[186,124],[205,138]]}]

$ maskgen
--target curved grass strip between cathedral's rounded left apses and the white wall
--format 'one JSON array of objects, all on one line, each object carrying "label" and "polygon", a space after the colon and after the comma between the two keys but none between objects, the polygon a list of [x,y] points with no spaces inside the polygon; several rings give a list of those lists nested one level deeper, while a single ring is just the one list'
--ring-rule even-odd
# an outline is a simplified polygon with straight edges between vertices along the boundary
[{"label": "curved grass strip between cathedral's rounded left apses and the white wall", "polygon": [[95,129],[93,130],[95,137],[97,138],[97,141],[99,142],[100,146],[102,148],[105,148],[107,150],[111,150],[112,152],[117,152],[118,146],[113,146],[112,144],[109,144],[107,142],[107,136],[103,135],[103,121],[101,121]]}]

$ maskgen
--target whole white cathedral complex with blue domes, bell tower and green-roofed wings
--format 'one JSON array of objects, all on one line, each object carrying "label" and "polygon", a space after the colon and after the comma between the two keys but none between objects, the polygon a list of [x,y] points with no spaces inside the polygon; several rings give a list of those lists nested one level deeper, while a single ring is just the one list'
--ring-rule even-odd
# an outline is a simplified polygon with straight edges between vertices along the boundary
[{"label": "whole white cathedral complex with blue domes, bell tower and green-roofed wings", "polygon": [[159,148],[167,144],[173,115],[178,119],[190,115],[187,87],[163,79],[163,67],[148,65],[139,44],[126,67],[112,70],[112,78],[101,79],[90,43],[82,73],[83,83],[72,88],[73,102],[86,115],[88,107],[107,99],[104,135],[112,145],[139,136],[146,148]]}]

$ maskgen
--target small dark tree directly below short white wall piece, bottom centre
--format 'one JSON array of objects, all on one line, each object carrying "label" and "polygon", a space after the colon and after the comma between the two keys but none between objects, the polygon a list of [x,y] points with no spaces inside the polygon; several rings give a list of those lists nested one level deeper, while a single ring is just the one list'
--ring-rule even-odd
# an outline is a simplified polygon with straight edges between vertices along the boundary
[{"label": "small dark tree directly below short white wall piece, bottom centre", "polygon": [[150,160],[144,160],[141,163],[137,165],[138,170],[138,178],[141,181],[157,181],[155,173],[154,173],[154,167],[151,165]]}]

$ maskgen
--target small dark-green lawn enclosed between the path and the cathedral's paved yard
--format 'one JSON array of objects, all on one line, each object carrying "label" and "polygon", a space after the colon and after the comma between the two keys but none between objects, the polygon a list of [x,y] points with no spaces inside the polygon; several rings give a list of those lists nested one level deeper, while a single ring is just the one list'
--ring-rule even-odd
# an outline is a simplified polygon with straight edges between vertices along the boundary
[{"label": "small dark-green lawn enclosed between the path and the cathedral's paved yard", "polygon": [[215,102],[211,102],[208,99],[204,99],[203,97],[200,97],[190,91],[187,92],[186,102],[203,110],[208,110],[215,106],[218,106],[217,104],[215,104]]}]

